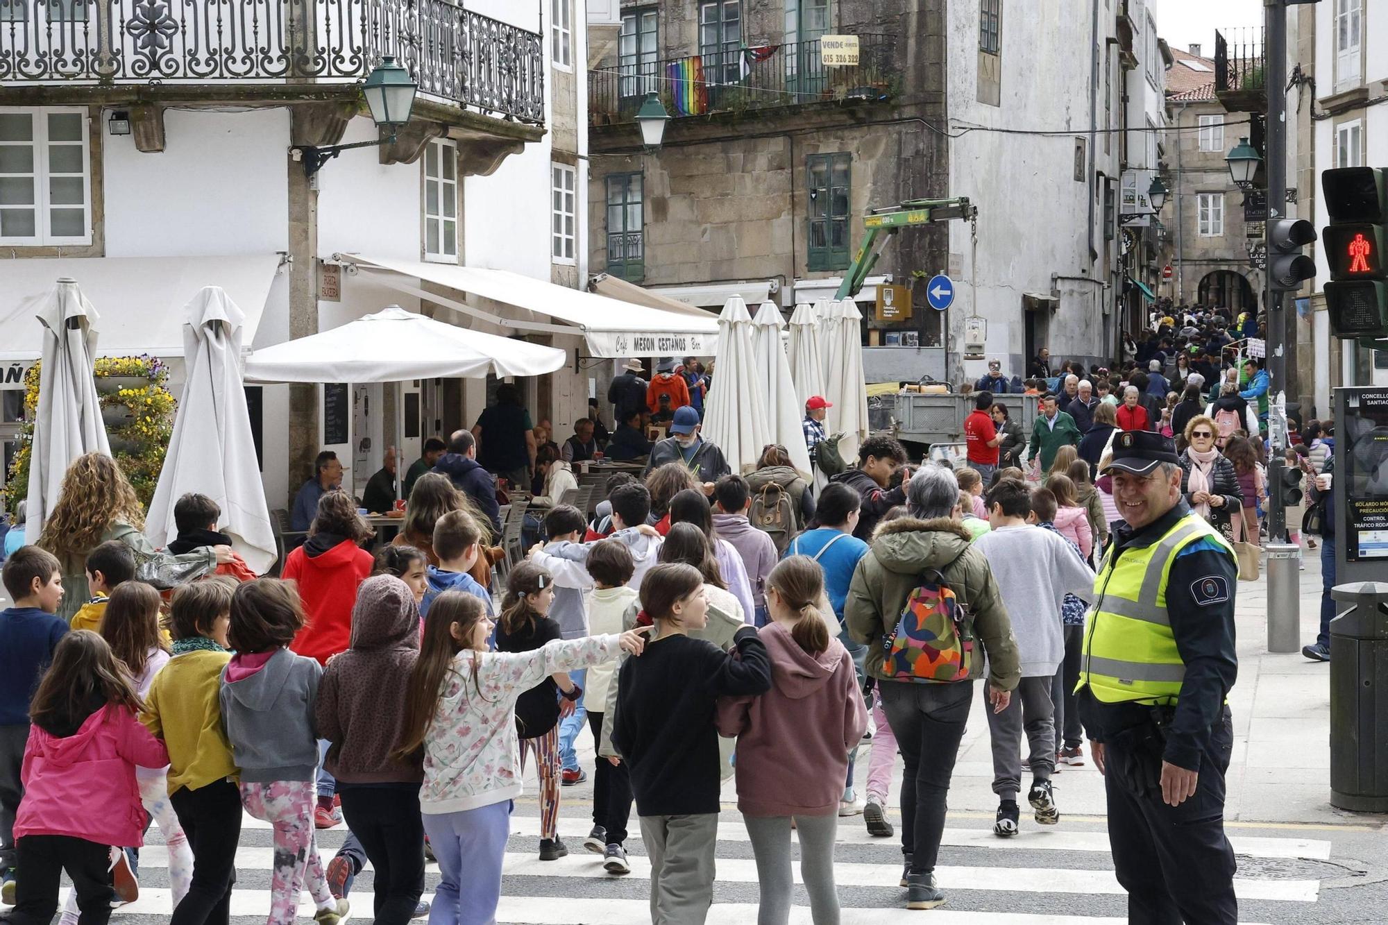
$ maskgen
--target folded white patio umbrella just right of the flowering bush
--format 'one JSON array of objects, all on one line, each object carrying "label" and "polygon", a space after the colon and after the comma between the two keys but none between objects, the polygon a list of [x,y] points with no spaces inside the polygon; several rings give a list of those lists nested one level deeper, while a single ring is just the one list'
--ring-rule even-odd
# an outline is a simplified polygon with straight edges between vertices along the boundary
[{"label": "folded white patio umbrella just right of the flowering bush", "polygon": [[174,504],[189,492],[205,494],[222,508],[217,529],[264,575],[278,553],[242,383],[246,315],[221,286],[203,288],[183,312],[186,383],[146,533],[155,546],[175,539]]}]

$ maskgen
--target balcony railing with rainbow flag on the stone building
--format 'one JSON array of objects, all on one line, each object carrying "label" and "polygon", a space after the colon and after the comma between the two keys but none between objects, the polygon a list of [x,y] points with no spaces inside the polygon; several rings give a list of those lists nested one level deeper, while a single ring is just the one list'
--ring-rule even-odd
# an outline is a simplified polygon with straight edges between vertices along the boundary
[{"label": "balcony railing with rainbow flag on the stone building", "polygon": [[[3,0],[0,0],[3,1]],[[887,100],[901,92],[897,39],[859,35],[858,64],[827,67],[819,40],[648,58],[589,72],[594,125],[632,122],[647,93],[675,118],[844,100]]]}]

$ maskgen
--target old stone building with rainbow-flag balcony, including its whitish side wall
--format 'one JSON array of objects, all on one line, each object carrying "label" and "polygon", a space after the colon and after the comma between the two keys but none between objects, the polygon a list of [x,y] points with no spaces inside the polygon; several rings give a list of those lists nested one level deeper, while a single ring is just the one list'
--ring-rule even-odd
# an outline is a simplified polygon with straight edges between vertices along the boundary
[{"label": "old stone building with rainbow-flag balcony, including its whitish side wall", "polygon": [[[1134,3],[1092,21],[1055,4],[1044,32],[1002,0],[602,0],[602,25],[590,6],[591,269],[711,311],[738,292],[788,312],[833,297],[870,211],[965,196],[976,228],[894,235],[858,293],[869,378],[976,378],[970,318],[1009,372],[1041,346],[1108,358],[1130,161],[1110,133],[1142,125],[1123,82],[1160,54],[1155,39],[1110,49]],[[823,35],[855,38],[856,64],[823,64]],[[658,150],[634,124],[648,93],[672,117]],[[956,288],[942,312],[923,285],[936,274]],[[909,289],[909,317],[879,317],[888,283]]]}]

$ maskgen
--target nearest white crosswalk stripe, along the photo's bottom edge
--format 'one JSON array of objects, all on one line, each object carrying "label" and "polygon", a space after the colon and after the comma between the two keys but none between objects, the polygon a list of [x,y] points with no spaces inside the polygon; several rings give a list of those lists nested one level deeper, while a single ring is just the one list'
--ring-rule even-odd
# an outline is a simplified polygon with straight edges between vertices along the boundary
[{"label": "nearest white crosswalk stripe, along the photo's bottom edge", "polygon": [[[369,918],[371,897],[354,894],[358,903],[365,903],[351,921],[365,922]],[[433,901],[433,894],[425,899]],[[312,903],[307,896],[300,903],[300,915],[311,914]],[[715,903],[708,919],[719,925],[755,925],[756,903]],[[142,889],[140,900],[115,910],[112,919],[119,921],[133,915],[167,917],[172,912],[172,899],[165,889]],[[264,919],[269,912],[269,890],[233,890],[232,917]],[[930,925],[1124,925],[1127,919],[1095,915],[1033,915],[1026,912],[962,912],[949,908],[933,910]],[[547,896],[502,896],[497,908],[497,922],[501,925],[582,925],[602,922],[604,925],[647,925],[651,921],[651,906],[644,899],[575,899],[557,901]],[[811,925],[808,907],[791,910],[794,925]],[[920,925],[920,912],[897,908],[843,908],[840,921],[844,925],[895,925],[897,922]]]}]

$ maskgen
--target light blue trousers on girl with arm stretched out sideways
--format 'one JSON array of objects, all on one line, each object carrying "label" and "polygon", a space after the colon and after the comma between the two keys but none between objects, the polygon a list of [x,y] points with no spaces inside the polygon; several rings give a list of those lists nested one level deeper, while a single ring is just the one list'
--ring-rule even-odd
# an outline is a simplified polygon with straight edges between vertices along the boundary
[{"label": "light blue trousers on girl with arm stretched out sideways", "polygon": [[441,878],[429,925],[487,925],[497,919],[512,806],[507,800],[462,812],[423,814]]}]

